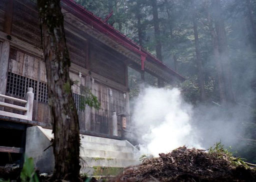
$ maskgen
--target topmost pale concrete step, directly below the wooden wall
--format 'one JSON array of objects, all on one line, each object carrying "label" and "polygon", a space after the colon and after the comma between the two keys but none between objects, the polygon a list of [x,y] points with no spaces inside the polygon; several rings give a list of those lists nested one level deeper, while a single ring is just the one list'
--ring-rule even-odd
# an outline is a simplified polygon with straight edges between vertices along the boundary
[{"label": "topmost pale concrete step, directly below the wooden wall", "polygon": [[126,146],[125,140],[102,138],[102,137],[89,136],[89,135],[81,135],[80,139],[81,139],[81,142],[85,141],[85,142],[93,142],[93,143],[104,143],[104,144]]}]

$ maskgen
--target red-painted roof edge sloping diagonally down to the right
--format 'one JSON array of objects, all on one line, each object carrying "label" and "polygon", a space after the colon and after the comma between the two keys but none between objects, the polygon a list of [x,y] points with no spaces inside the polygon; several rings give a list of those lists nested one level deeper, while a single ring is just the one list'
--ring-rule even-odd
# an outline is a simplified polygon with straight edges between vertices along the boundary
[{"label": "red-painted roof edge sloping diagonally down to the right", "polygon": [[[131,51],[138,53],[140,56],[147,57],[148,61],[151,61],[153,63],[157,63],[161,67],[163,67],[165,70],[170,71],[170,73],[176,77],[178,77],[180,80],[185,80],[183,76],[169,68],[166,64],[155,58],[152,54],[147,52],[146,50],[142,49],[138,44],[136,44],[134,41],[132,41],[130,38],[123,35],[120,31],[114,29],[111,25],[104,22],[99,17],[95,16],[92,12],[86,10],[82,5],[76,3],[73,0],[61,0],[64,2],[62,8],[65,10],[71,12],[76,17],[82,19],[87,24],[89,24],[92,28],[97,29],[98,31],[104,33],[105,35],[113,38],[126,48],[130,49]],[[142,68],[142,65],[141,65]],[[144,66],[143,66],[144,68]]]}]

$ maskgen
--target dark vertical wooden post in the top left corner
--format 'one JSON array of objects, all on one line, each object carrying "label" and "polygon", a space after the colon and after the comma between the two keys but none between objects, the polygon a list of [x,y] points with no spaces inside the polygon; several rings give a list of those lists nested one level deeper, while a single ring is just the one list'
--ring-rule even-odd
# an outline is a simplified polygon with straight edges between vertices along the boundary
[{"label": "dark vertical wooden post in the top left corner", "polygon": [[3,31],[9,35],[11,34],[12,17],[13,17],[13,0],[7,0],[5,14],[4,14]]}]

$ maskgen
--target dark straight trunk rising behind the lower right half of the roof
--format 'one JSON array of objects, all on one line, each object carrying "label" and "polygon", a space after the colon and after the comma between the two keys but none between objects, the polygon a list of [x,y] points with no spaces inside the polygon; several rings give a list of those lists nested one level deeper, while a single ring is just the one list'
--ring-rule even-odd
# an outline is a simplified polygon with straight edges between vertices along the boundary
[{"label": "dark straight trunk rising behind the lower right half of the roof", "polygon": [[157,12],[157,3],[156,0],[150,0],[152,6],[152,13],[153,13],[153,25],[154,25],[154,38],[155,38],[155,51],[156,57],[162,61],[162,45],[161,45],[161,35],[159,29],[159,19],[158,19],[158,12]]}]

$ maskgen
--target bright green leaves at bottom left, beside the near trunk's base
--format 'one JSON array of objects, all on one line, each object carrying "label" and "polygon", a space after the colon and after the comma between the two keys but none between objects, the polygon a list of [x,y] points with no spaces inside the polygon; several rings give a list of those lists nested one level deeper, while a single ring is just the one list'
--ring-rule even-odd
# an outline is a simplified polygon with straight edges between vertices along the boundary
[{"label": "bright green leaves at bottom left, beside the near trunk's base", "polygon": [[22,182],[39,182],[34,168],[34,161],[32,157],[25,158],[23,168],[20,172],[20,179]]}]

